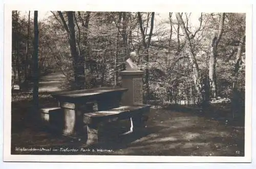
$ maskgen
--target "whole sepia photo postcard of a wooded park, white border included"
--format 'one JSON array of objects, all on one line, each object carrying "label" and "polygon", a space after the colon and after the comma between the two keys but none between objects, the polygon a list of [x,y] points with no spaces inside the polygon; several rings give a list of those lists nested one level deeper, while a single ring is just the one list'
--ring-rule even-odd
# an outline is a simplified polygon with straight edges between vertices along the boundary
[{"label": "whole sepia photo postcard of a wooded park, white border included", "polygon": [[9,9],[7,161],[251,160],[250,8]]}]

